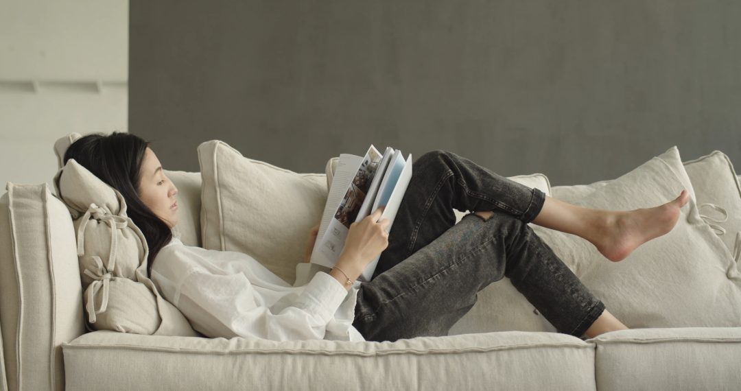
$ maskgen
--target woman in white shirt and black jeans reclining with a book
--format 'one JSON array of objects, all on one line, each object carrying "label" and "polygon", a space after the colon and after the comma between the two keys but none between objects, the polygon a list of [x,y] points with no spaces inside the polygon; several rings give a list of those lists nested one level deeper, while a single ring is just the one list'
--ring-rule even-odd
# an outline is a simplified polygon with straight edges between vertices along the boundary
[{"label": "woman in white shirt and black jeans reclining with a book", "polygon": [[[150,248],[147,273],[193,328],[210,337],[396,341],[447,335],[476,303],[476,293],[504,277],[559,332],[592,338],[624,330],[528,223],[579,235],[617,262],[670,232],[689,196],[682,190],[648,209],[588,209],[434,150],[413,162],[388,234],[388,219],[379,220],[382,208],[373,211],[350,225],[330,273],[290,287],[249,255],[173,238],[178,190],[142,138],[90,134],[70,145],[65,164],[70,158],[122,193]],[[476,212],[456,224],[453,209]],[[316,227],[307,254],[315,239]],[[371,281],[355,281],[379,254]]]}]

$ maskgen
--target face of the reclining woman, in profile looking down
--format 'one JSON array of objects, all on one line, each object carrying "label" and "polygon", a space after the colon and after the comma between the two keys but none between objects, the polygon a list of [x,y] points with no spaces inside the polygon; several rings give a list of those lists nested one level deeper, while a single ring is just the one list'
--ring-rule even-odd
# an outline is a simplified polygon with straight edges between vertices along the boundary
[{"label": "face of the reclining woman, in profile looking down", "polygon": [[147,147],[142,161],[142,179],[139,182],[139,198],[162,221],[172,228],[178,223],[178,205],[175,195],[177,187],[165,176],[165,170],[154,151]]}]

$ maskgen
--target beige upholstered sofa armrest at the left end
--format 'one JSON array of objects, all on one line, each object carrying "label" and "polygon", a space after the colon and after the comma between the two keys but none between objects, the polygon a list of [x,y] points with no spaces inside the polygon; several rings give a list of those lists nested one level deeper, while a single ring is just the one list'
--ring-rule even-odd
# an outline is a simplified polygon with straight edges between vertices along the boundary
[{"label": "beige upholstered sofa armrest at the left end", "polygon": [[70,213],[47,184],[0,198],[0,326],[8,390],[64,390],[63,342],[84,334]]}]

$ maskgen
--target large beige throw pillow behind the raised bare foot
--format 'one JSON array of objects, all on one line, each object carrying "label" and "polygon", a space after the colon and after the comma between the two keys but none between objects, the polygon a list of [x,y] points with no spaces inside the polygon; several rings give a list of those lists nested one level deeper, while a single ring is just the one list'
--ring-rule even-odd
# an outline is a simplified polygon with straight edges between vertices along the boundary
[{"label": "large beige throw pillow behind the raised bare foot", "polygon": [[[605,210],[654,207],[682,189],[694,193],[675,146],[579,204]],[[700,218],[692,196],[671,232],[617,263],[576,235],[539,226],[534,230],[628,327],[741,326],[741,273]]]}]

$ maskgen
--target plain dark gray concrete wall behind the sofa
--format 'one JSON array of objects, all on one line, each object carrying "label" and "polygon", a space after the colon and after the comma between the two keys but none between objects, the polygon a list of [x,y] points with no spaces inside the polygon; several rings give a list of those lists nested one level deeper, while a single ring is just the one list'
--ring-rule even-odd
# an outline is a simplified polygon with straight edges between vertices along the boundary
[{"label": "plain dark gray concrete wall behind the sofa", "polygon": [[741,165],[741,2],[130,1],[129,131],[323,172],[371,143],[551,184]]}]

